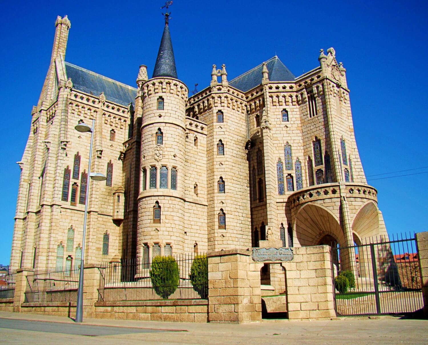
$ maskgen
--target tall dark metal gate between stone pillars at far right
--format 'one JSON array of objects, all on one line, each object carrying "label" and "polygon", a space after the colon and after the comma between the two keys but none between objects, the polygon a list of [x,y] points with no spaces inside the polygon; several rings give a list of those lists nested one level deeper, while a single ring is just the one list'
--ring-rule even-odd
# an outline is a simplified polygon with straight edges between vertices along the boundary
[{"label": "tall dark metal gate between stone pillars at far right", "polygon": [[[415,236],[409,237],[392,237],[392,241],[377,238],[371,239],[374,243],[332,248],[337,315],[403,314],[422,309]],[[355,286],[339,292],[336,277],[348,270],[354,272]]]}]

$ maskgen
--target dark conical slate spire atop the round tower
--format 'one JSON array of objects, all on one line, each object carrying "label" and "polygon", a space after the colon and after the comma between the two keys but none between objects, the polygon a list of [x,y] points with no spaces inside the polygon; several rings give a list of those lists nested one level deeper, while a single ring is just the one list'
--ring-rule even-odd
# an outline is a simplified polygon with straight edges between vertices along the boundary
[{"label": "dark conical slate spire atop the round tower", "polygon": [[165,28],[163,29],[158,58],[156,59],[156,65],[153,71],[152,78],[155,77],[172,77],[177,79],[174,51],[172,50],[171,36],[169,35],[169,27],[167,23],[165,23]]}]

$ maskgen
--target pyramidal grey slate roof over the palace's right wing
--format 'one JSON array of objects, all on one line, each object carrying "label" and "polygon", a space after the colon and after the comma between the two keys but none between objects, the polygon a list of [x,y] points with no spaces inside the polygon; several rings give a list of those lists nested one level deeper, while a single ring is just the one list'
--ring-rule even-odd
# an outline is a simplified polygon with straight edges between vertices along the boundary
[{"label": "pyramidal grey slate roof over the palace's right wing", "polygon": [[[294,74],[285,67],[277,56],[266,61],[266,65],[268,67],[270,81],[294,81],[294,79],[296,79]],[[262,83],[262,69],[263,66],[260,64],[250,69],[250,71],[230,80],[229,85],[243,92],[247,92]]]}]

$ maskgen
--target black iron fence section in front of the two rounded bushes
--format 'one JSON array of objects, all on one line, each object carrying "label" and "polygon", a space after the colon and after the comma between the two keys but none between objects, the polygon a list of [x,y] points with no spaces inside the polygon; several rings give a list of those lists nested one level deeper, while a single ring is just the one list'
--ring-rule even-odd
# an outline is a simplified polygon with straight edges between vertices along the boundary
[{"label": "black iron fence section in front of the two rounded bushes", "polygon": [[100,268],[99,301],[189,300],[208,298],[206,256],[155,257],[107,262]]}]

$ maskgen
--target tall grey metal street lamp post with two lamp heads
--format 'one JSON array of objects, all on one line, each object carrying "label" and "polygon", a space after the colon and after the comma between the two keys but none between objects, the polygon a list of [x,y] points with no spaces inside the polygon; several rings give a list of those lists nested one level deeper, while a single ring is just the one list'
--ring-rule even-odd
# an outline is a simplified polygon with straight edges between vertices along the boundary
[{"label": "tall grey metal street lamp post with two lamp heads", "polygon": [[80,259],[80,272],[79,272],[79,287],[77,289],[77,304],[76,304],[76,322],[82,322],[83,319],[83,265],[85,261],[85,239],[86,239],[86,220],[88,217],[88,204],[89,204],[89,185],[91,178],[95,181],[105,181],[107,178],[101,173],[91,173],[91,161],[92,161],[92,143],[94,140],[94,126],[95,119],[92,119],[92,127],[86,125],[86,123],[79,123],[76,127],[76,131],[81,133],[91,132],[91,145],[89,146],[89,165],[88,165],[88,176],[86,185],[86,202],[85,202],[85,215],[83,219],[83,239],[82,239],[82,255]]}]

